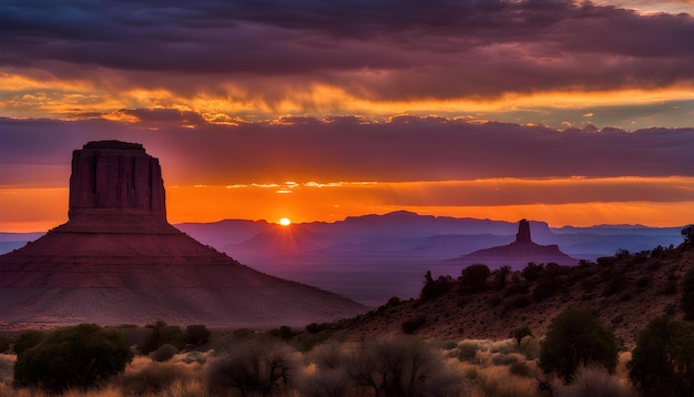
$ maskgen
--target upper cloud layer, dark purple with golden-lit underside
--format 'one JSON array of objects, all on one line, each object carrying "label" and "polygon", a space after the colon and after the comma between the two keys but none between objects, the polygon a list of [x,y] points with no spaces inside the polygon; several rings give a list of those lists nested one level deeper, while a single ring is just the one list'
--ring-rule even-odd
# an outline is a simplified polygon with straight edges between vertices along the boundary
[{"label": "upper cloud layer, dark purple with golden-lit underside", "polygon": [[0,99],[11,116],[152,106],[217,121],[452,116],[558,99],[605,105],[570,99],[579,92],[620,103],[623,90],[661,92],[652,103],[694,99],[691,14],[590,2],[17,1],[2,7],[0,33]]}]

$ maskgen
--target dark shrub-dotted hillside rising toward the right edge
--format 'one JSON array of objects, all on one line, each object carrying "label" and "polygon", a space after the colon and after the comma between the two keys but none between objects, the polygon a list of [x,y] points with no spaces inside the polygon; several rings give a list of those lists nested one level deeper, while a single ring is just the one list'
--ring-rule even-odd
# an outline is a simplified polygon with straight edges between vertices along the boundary
[{"label": "dark shrub-dotted hillside rising toward the right edge", "polygon": [[461,284],[463,278],[457,275],[439,277],[426,284],[423,297],[392,298],[365,315],[324,328],[358,339],[402,333],[406,323],[415,334],[438,339],[498,339],[523,326],[543,335],[565,307],[584,306],[631,345],[654,317],[680,315],[682,279],[692,268],[694,246],[685,243],[639,253],[622,251],[578,266],[530,266],[510,273],[501,284],[491,273],[479,292]]}]

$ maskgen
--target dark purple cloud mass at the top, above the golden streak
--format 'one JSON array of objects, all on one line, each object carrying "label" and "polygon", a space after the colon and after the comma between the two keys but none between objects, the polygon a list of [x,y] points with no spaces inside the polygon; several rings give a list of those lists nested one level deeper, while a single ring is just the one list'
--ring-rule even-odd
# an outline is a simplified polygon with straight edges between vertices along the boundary
[{"label": "dark purple cloud mass at the top, above the golden streak", "polygon": [[[6,1],[0,65],[330,82],[371,99],[667,86],[694,78],[694,20],[589,2]],[[75,64],[70,69],[65,65]],[[376,77],[364,72],[385,71]],[[93,72],[93,71],[92,71]],[[368,73],[367,73],[368,74]],[[170,82],[171,83],[171,82]],[[175,84],[174,84],[175,85]]]}]

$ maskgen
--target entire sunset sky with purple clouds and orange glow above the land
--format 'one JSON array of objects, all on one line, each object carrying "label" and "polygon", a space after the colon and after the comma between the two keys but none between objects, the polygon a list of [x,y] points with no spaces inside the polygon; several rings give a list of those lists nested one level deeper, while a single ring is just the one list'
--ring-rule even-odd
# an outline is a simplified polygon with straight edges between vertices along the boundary
[{"label": "entire sunset sky with purple clouds and orange glow above the land", "polygon": [[169,220],[694,223],[694,1],[0,0],[0,231],[89,141]]}]

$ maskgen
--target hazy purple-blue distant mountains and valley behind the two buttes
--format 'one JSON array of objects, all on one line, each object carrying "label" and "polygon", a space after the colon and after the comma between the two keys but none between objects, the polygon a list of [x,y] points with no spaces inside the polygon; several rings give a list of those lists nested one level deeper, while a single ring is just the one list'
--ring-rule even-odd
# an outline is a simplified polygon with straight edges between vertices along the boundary
[{"label": "hazy purple-blue distant mountains and valley behind the two buttes", "polygon": [[[533,242],[557,245],[575,259],[594,261],[618,250],[640,252],[682,242],[682,227],[550,227],[538,221],[529,225]],[[511,244],[518,232],[512,222],[405,211],[289,226],[244,220],[175,226],[253,268],[375,306],[394,295],[415,296],[427,271],[460,274],[466,265],[449,259]],[[2,235],[0,248],[1,243]]]}]

